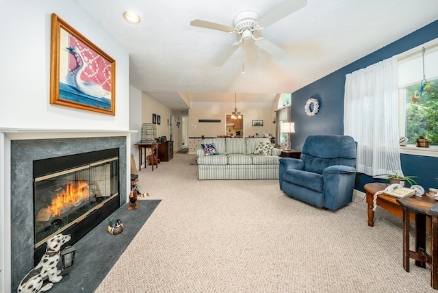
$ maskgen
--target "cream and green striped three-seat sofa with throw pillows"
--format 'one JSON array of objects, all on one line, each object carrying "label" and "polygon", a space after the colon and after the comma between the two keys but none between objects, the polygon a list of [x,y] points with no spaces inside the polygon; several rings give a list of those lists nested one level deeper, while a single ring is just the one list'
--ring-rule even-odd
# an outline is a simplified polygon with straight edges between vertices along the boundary
[{"label": "cream and green striped three-seat sofa with throw pillows", "polygon": [[278,179],[280,154],[269,138],[205,138],[196,150],[198,180]]}]

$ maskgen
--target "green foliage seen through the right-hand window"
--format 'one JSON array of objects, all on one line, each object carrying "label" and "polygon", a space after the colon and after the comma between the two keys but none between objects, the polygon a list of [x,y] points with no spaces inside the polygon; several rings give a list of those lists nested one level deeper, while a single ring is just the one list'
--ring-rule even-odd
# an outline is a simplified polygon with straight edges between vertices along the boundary
[{"label": "green foliage seen through the right-hand window", "polygon": [[438,145],[438,79],[427,82],[428,88],[420,97],[421,84],[407,87],[406,136],[415,144],[420,136],[428,138],[430,145]]}]

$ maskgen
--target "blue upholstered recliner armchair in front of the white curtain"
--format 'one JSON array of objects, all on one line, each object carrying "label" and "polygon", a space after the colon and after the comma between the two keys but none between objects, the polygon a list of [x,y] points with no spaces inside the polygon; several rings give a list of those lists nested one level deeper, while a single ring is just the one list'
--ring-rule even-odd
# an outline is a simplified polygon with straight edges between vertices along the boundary
[{"label": "blue upholstered recliner armchair in front of the white curtain", "polygon": [[355,166],[351,136],[308,136],[300,159],[280,159],[280,189],[315,207],[339,209],[352,201]]}]

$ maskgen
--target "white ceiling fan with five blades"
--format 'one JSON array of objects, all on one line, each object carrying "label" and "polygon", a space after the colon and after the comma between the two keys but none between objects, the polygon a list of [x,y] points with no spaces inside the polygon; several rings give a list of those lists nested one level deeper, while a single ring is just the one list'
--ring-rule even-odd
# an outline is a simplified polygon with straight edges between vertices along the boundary
[{"label": "white ceiling fan with five blades", "polygon": [[287,52],[281,49],[276,44],[266,40],[259,36],[256,38],[255,33],[257,31],[261,31],[279,21],[281,18],[296,12],[300,8],[305,7],[307,5],[307,0],[288,0],[284,1],[280,5],[276,6],[276,8],[272,9],[270,12],[263,16],[259,16],[257,12],[254,11],[244,11],[237,14],[234,18],[233,25],[234,27],[230,27],[228,25],[220,25],[219,23],[211,23],[209,21],[202,21],[201,19],[195,19],[190,22],[190,25],[194,27],[204,27],[206,29],[216,29],[218,31],[225,31],[227,33],[234,33],[237,35],[238,41],[235,42],[231,47],[222,55],[216,62],[215,66],[222,66],[237,50],[240,45],[244,44],[244,40],[253,39],[254,43],[257,47],[260,47],[264,51],[274,55],[276,58],[285,58]]}]

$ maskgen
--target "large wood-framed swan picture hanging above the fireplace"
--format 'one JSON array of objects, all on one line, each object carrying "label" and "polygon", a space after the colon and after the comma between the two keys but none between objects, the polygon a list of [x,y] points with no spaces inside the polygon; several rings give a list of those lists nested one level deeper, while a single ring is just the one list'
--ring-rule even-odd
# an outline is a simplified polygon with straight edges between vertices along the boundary
[{"label": "large wood-framed swan picture hanging above the fireplace", "polygon": [[50,103],[116,114],[116,61],[52,14]]}]

